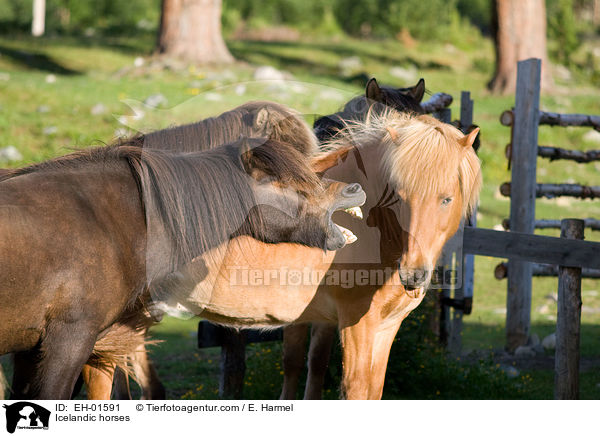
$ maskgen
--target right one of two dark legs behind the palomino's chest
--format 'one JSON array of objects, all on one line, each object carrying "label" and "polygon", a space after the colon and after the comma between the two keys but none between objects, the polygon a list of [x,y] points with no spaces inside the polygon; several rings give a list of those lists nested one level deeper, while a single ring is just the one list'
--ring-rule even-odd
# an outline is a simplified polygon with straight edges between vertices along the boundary
[{"label": "right one of two dark legs behind the palomino's chest", "polygon": [[304,389],[305,400],[320,400],[323,397],[323,384],[329,367],[336,329],[337,326],[330,324],[312,325],[308,352],[308,377]]}]

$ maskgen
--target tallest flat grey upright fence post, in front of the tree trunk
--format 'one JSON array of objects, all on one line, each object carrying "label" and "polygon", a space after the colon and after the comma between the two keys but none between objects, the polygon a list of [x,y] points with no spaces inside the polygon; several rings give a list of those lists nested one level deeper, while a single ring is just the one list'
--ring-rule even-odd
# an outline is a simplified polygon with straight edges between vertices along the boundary
[{"label": "tallest flat grey upright fence post, in front of the tree trunk", "polygon": [[[540,73],[539,59],[518,63],[512,126],[510,228],[522,233],[534,231]],[[506,301],[506,348],[509,351],[527,343],[530,322],[531,264],[510,261]]]}]

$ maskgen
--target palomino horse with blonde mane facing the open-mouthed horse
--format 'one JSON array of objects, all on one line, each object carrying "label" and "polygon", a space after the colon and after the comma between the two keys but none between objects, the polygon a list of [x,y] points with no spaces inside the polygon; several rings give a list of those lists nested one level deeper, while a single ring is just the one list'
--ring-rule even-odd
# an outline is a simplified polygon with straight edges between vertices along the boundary
[{"label": "palomino horse with blonde mane facing the open-mouthed horse", "polygon": [[350,124],[314,167],[365,187],[368,222],[339,218],[358,235],[356,243],[323,253],[240,237],[228,244],[223,263],[206,273],[206,261],[194,259],[167,278],[165,286],[179,292],[163,295],[159,285],[155,298],[240,328],[337,325],[345,398],[380,398],[396,332],[477,201],[476,135],[393,110]]}]

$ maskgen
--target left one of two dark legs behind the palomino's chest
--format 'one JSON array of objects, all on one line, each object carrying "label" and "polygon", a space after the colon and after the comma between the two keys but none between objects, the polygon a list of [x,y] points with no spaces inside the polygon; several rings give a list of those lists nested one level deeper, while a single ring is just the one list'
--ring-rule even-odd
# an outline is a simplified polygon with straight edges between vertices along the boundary
[{"label": "left one of two dark legs behind the palomino's chest", "polygon": [[283,329],[283,388],[280,400],[295,400],[298,381],[304,370],[308,324],[295,324]]}]

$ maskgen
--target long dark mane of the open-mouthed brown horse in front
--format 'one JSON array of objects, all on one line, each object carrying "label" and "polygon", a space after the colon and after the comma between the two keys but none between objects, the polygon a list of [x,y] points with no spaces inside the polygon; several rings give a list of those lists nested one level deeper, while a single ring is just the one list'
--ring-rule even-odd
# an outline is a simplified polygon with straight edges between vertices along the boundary
[{"label": "long dark mane of the open-mouthed brown horse in front", "polygon": [[167,238],[169,253],[160,256],[169,272],[236,232],[262,233],[262,217],[260,209],[255,208],[253,179],[248,171],[261,171],[298,192],[322,189],[308,159],[294,147],[250,138],[191,153],[135,144],[91,148],[8,170],[0,173],[0,181],[34,172],[64,173],[98,163],[111,168],[123,161],[131,168],[140,190],[148,238]]}]

